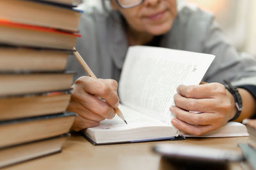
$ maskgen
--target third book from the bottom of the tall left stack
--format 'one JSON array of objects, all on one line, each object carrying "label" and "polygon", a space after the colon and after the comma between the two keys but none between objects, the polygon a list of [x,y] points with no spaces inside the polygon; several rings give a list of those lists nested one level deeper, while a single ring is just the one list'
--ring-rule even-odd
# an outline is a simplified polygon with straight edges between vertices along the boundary
[{"label": "third book from the bottom of the tall left stack", "polygon": [[70,90],[0,96],[0,121],[61,113],[67,109]]}]

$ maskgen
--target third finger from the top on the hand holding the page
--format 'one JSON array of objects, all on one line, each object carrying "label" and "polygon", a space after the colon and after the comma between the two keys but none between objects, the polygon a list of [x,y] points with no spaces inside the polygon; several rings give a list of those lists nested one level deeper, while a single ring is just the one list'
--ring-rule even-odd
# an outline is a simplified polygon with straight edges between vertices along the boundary
[{"label": "third finger from the top on the hand holding the page", "polygon": [[220,120],[219,116],[215,113],[193,113],[184,111],[177,106],[172,106],[170,111],[176,118],[179,118],[179,120],[193,125],[210,125]]}]

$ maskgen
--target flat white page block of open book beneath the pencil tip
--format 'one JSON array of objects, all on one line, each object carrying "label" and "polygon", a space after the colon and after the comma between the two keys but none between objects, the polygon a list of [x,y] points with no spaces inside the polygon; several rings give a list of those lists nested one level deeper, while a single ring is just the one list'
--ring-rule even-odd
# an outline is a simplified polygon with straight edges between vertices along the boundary
[{"label": "flat white page block of open book beneath the pencil tip", "polygon": [[119,108],[128,124],[116,115],[113,119],[103,120],[97,127],[85,129],[84,134],[98,144],[170,139],[176,134],[173,126],[147,117],[122,104]]}]

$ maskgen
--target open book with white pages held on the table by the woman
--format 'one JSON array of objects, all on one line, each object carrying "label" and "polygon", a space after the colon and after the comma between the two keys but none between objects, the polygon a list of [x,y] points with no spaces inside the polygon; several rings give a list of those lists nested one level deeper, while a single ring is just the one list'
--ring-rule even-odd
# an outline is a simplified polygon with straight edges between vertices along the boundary
[{"label": "open book with white pages held on the table by the woman", "polygon": [[[177,87],[198,85],[213,59],[214,55],[205,53],[130,47],[118,89],[119,108],[128,124],[116,116],[84,130],[84,136],[95,145],[172,139],[177,130],[171,124],[169,108],[174,105]],[[244,125],[232,122],[209,137],[246,135]]]}]

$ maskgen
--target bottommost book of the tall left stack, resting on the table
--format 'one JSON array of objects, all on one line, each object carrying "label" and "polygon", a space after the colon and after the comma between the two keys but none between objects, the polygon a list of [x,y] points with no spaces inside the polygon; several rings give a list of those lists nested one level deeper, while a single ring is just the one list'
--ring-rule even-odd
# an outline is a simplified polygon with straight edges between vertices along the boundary
[{"label": "bottommost book of the tall left stack, resting on the table", "polygon": [[52,138],[0,148],[0,168],[61,152],[61,146],[68,136],[68,133],[61,134]]}]

